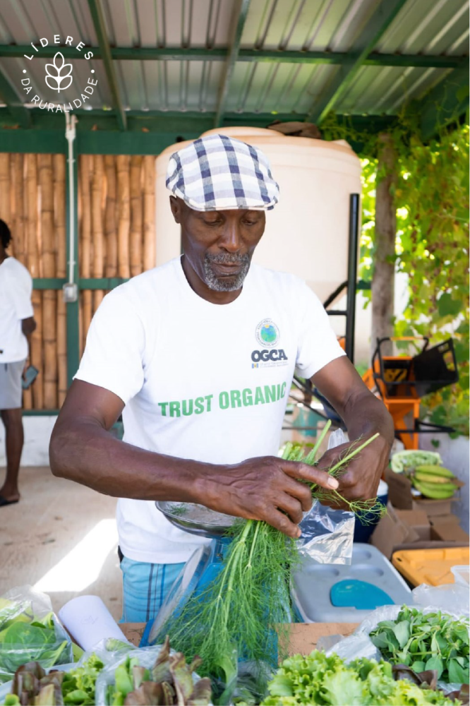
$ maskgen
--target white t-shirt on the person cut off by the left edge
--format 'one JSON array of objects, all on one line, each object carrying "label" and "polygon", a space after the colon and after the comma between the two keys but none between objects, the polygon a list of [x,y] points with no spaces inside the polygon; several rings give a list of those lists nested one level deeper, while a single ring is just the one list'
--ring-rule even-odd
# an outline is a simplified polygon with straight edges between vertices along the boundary
[{"label": "white t-shirt on the person cut off by the left edge", "polygon": [[31,292],[28,270],[15,258],[6,258],[0,265],[0,363],[28,357],[28,340],[21,330],[21,321],[34,315]]}]

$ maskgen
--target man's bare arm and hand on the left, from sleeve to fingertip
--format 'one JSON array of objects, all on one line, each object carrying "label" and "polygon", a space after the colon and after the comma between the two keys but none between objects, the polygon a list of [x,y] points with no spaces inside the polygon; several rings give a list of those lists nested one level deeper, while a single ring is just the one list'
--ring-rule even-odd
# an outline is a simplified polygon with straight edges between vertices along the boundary
[{"label": "man's bare arm and hand on the left, from sleeve to fingertip", "polygon": [[114,497],[202,503],[265,520],[291,537],[298,536],[297,524],[311,507],[311,493],[298,479],[331,487],[325,472],[277,457],[215,465],[124,443],[109,433],[122,410],[114,393],[74,381],[52,433],[53,474]]}]

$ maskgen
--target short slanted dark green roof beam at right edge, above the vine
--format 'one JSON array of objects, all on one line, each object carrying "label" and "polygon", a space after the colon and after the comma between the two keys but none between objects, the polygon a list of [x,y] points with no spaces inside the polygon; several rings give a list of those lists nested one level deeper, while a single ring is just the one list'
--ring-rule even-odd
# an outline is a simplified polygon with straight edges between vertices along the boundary
[{"label": "short slanted dark green roof beam at right edge, above the vine", "polygon": [[421,134],[433,137],[447,124],[457,121],[470,108],[470,57],[464,66],[452,71],[419,104]]}]

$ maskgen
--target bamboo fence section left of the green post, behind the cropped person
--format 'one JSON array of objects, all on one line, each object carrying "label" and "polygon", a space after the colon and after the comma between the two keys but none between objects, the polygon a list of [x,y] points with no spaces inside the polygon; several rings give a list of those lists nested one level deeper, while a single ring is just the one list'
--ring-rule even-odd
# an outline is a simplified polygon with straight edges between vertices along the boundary
[{"label": "bamboo fence section left of the green post, behind the cropped person", "polygon": [[[66,271],[64,155],[0,154],[0,217],[13,240],[8,252],[32,277]],[[66,393],[66,321],[61,292],[33,289],[37,328],[30,361],[39,375],[23,393],[25,409],[56,409]]]}]

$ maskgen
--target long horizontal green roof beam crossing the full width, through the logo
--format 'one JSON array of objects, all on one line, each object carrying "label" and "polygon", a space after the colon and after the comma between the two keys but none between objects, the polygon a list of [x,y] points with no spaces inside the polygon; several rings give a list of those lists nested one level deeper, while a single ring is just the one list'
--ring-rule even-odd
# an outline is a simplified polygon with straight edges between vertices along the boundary
[{"label": "long horizontal green roof beam crossing the full width, through the logo", "polygon": [[[58,44],[41,49],[41,56],[52,59],[56,52],[66,59],[84,59],[83,54],[93,52],[94,59],[101,59],[100,47],[61,47]],[[30,54],[29,44],[0,44],[0,56],[18,58]],[[227,61],[225,47],[200,49],[194,47],[112,47],[112,59],[119,61]],[[265,61],[276,64],[346,64],[351,59],[347,52],[292,52],[281,49],[240,49],[237,61]],[[459,68],[466,56],[433,56],[430,54],[379,54],[372,52],[364,59],[364,66],[418,66],[422,68]]]}]

